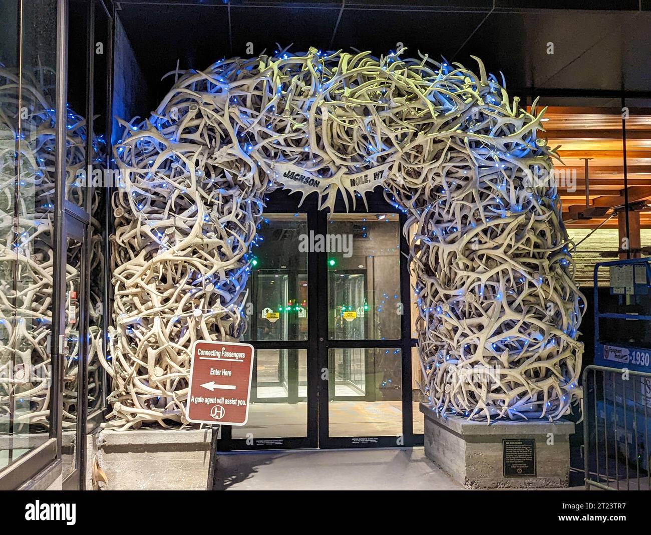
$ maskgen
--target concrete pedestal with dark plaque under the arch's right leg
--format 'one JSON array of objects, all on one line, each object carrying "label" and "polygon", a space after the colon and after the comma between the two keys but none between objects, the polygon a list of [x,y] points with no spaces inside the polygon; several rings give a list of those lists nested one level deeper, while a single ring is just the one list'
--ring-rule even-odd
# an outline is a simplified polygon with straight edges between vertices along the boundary
[{"label": "concrete pedestal with dark plaque under the arch's right leg", "polygon": [[[523,489],[568,486],[569,438],[574,433],[574,422],[497,420],[487,425],[485,421],[469,422],[462,417],[439,418],[423,403],[421,412],[425,415],[425,455],[465,487]],[[527,448],[529,452],[533,450],[534,462],[527,460]],[[521,465],[520,458],[523,460]],[[528,472],[527,468],[519,466],[531,465],[534,465],[535,475],[517,474],[518,471]]]}]

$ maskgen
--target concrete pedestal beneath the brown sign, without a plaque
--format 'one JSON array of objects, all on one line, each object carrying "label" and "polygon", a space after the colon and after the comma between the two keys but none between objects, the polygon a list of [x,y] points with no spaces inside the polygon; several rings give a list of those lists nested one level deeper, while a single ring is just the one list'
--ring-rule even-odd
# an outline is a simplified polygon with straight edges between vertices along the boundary
[{"label": "concrete pedestal beneath the brown sign, without a plaque", "polygon": [[210,428],[102,430],[88,437],[94,455],[87,477],[96,459],[107,490],[206,490],[211,436]]}]

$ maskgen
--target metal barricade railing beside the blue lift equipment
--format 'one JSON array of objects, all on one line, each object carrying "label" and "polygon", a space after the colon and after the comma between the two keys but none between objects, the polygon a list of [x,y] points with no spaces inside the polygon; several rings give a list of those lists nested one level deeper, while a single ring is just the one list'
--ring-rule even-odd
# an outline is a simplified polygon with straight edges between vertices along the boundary
[{"label": "metal barricade railing beside the blue lift equipment", "polygon": [[651,489],[651,373],[587,366],[583,389],[586,489]]}]

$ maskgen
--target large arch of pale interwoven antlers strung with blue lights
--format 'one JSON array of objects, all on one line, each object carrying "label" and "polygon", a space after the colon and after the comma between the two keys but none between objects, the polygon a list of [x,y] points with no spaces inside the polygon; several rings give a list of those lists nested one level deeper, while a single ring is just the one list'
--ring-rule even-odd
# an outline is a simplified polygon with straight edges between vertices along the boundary
[{"label": "large arch of pale interwoven antlers strung with blue lights", "polygon": [[[554,154],[536,139],[542,112],[519,109],[479,71],[282,51],[186,72],[149,120],[122,122],[104,362],[112,425],[186,423],[189,348],[242,335],[247,251],[282,163],[331,182],[320,199],[329,207],[338,173],[391,166],[385,196],[415,228],[423,389],[435,410],[567,413],[581,399],[583,297],[555,185],[536,178]],[[498,372],[475,381],[453,365]]]}]

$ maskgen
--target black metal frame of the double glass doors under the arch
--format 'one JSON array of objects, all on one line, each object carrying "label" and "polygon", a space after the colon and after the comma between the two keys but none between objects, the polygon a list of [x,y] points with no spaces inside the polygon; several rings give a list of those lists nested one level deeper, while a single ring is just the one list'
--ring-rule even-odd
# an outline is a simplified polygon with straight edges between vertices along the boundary
[{"label": "black metal frame of the double glass doors under the arch", "polygon": [[[316,200],[308,197],[299,207],[296,195],[290,197],[286,191],[277,191],[265,198],[265,213],[305,213],[307,230],[315,234],[327,234],[329,212],[318,210]],[[368,448],[422,446],[423,435],[413,433],[413,406],[411,404],[411,348],[417,340],[411,338],[411,284],[409,282],[409,245],[402,234],[407,216],[400,208],[389,204],[381,191],[367,198],[368,210],[363,202],[358,202],[353,213],[398,213],[400,225],[400,303],[403,314],[400,318],[401,338],[393,340],[328,340],[327,294],[327,254],[308,253],[307,256],[307,302],[308,336],[307,340],[255,341],[256,350],[286,348],[307,350],[307,437],[279,437],[278,439],[233,439],[232,428],[221,426],[220,451],[232,450],[277,450],[301,448]],[[339,208],[339,210],[338,210]],[[348,210],[339,202],[335,213]],[[329,437],[328,433],[328,350],[330,348],[398,348],[402,364],[402,435],[388,437]],[[363,440],[360,440],[363,439]],[[370,439],[370,441],[369,441]]]}]

